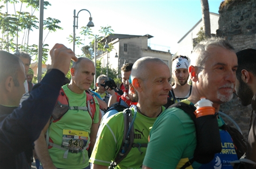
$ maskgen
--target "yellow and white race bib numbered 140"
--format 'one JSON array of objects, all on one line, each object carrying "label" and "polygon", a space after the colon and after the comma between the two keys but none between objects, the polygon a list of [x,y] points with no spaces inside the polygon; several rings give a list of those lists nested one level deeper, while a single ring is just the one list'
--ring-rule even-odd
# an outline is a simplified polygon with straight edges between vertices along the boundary
[{"label": "yellow and white race bib numbered 140", "polygon": [[79,130],[63,130],[61,147],[69,150],[82,150],[88,142],[88,132]]}]

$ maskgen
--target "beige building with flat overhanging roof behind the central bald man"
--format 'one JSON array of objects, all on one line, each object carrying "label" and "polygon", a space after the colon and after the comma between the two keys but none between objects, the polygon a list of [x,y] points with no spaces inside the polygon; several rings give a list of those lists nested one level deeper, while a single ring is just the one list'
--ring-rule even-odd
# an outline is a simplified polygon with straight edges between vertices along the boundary
[{"label": "beige building with flat overhanging roof behind the central bald man", "polygon": [[[108,44],[113,45],[111,52],[103,53],[96,57],[97,60],[102,61],[103,67],[108,66],[113,69],[121,69],[123,63],[134,63],[138,58],[145,56],[152,56],[160,58],[172,69],[172,54],[169,51],[153,50],[149,46],[148,40],[153,38],[151,35],[125,35],[112,34],[102,39]],[[118,57],[116,57],[116,54]],[[119,75],[121,76],[121,74]]]}]

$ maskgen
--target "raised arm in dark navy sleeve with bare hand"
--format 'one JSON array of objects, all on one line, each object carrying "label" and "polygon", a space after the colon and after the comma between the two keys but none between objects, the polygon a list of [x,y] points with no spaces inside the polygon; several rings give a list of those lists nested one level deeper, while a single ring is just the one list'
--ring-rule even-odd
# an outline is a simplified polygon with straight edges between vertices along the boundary
[{"label": "raised arm in dark navy sleeve with bare hand", "polygon": [[61,44],[56,44],[50,55],[51,70],[34,86],[30,97],[0,122],[1,159],[21,153],[40,136],[53,111],[71,59],[77,61],[72,50]]}]

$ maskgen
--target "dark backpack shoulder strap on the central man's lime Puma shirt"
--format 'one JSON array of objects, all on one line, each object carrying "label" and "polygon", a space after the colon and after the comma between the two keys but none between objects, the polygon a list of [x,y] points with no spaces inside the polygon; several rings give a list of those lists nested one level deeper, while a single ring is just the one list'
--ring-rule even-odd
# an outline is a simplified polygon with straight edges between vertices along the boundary
[{"label": "dark backpack shoulder strap on the central man's lime Puma shirt", "polygon": [[110,164],[110,169],[115,168],[129,153],[130,149],[133,147],[134,142],[134,121],[136,118],[136,110],[134,117],[131,115],[131,109],[127,108],[123,111],[123,121],[124,121],[124,132],[123,141],[119,154],[115,157],[114,161]]}]

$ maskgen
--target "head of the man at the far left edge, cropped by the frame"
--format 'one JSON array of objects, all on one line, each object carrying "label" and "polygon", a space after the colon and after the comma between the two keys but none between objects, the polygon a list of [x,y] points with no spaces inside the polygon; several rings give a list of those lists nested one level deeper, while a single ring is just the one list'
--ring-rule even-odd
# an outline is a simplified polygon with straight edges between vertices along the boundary
[{"label": "head of the man at the far left edge, cropped by the frame", "polygon": [[15,86],[19,86],[18,71],[20,70],[21,60],[9,52],[0,50],[0,83],[7,77],[12,77]]}]

